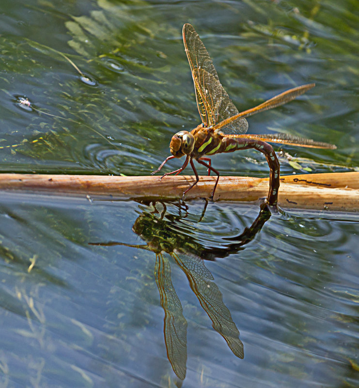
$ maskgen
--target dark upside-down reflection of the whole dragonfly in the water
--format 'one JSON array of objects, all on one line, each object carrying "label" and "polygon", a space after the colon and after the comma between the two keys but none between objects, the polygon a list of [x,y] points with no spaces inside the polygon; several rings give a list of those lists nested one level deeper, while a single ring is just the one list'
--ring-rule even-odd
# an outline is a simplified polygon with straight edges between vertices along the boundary
[{"label": "dark upside-down reflection of the whole dragonfly in the water", "polygon": [[[161,210],[157,207],[161,206]],[[177,205],[175,205],[177,206]],[[189,285],[200,301],[201,306],[213,323],[213,328],[225,339],[236,357],[243,358],[243,343],[235,326],[231,313],[224,305],[222,294],[214,282],[204,260],[223,258],[243,249],[258,233],[270,211],[262,204],[261,211],[253,224],[237,236],[226,238],[228,243],[220,248],[205,248],[193,237],[185,233],[188,226],[186,216],[169,213],[163,202],[154,203],[136,219],[132,230],[146,242],[145,245],[132,245],[120,242],[91,243],[91,245],[141,248],[156,254],[156,284],[161,306],[164,310],[164,337],[167,356],[175,374],[183,380],[186,376],[187,361],[187,321],[183,315],[181,302],[171,280],[171,268],[168,256],[183,270]],[[204,259],[204,260],[203,260]]]}]

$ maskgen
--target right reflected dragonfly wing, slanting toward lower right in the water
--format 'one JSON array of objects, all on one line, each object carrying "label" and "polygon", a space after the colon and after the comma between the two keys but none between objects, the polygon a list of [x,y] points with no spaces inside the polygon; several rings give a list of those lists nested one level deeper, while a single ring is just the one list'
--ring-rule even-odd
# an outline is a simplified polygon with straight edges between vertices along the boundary
[{"label": "right reflected dragonfly wing, slanting toward lower right in the water", "polygon": [[201,306],[213,322],[213,328],[226,340],[235,356],[244,357],[243,343],[238,338],[230,311],[224,305],[222,294],[213,281],[213,276],[204,266],[203,260],[194,255],[174,251],[172,256],[185,272],[192,291],[198,297]]}]

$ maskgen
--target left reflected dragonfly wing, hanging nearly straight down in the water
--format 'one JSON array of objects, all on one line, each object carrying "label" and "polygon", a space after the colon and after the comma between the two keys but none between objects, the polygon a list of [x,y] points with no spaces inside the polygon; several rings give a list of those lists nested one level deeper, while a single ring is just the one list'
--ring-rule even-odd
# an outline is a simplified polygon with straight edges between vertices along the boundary
[{"label": "left reflected dragonfly wing, hanging nearly straight down in the water", "polygon": [[187,321],[172,285],[170,264],[161,253],[156,255],[156,283],[161,306],[165,311],[163,331],[167,356],[173,372],[184,380],[187,361]]}]

